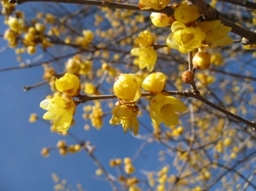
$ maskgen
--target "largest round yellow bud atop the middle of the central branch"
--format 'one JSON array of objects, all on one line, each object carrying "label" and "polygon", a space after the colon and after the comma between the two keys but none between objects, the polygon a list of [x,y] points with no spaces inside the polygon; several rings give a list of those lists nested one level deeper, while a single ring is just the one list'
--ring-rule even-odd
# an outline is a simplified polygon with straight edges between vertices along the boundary
[{"label": "largest round yellow bud atop the middle of the central branch", "polygon": [[142,78],[137,74],[120,74],[113,85],[113,92],[123,102],[135,102],[141,97]]}]

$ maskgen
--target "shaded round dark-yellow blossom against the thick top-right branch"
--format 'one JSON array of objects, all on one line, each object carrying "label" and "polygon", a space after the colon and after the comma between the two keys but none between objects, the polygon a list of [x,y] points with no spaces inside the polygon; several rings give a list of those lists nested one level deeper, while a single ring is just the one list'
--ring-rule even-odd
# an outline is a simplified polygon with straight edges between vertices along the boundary
[{"label": "shaded round dark-yellow blossom against the thick top-right branch", "polygon": [[174,17],[183,24],[189,24],[200,17],[200,12],[196,6],[189,6],[187,2],[184,2],[174,9]]}]

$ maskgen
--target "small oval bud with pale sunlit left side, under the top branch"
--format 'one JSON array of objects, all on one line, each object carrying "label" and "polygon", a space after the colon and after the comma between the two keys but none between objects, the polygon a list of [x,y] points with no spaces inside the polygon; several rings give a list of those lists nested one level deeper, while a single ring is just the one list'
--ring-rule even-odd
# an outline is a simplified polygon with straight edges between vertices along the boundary
[{"label": "small oval bud with pale sunlit left side, under the top branch", "polygon": [[151,13],[150,19],[152,24],[156,27],[166,27],[174,22],[174,18],[172,16],[168,17],[166,14],[156,12]]}]

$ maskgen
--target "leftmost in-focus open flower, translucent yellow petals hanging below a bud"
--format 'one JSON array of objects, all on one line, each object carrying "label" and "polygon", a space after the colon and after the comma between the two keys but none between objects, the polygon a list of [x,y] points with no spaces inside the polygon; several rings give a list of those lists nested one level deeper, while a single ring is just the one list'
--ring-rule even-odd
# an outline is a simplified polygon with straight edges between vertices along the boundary
[{"label": "leftmost in-focus open flower, translucent yellow petals hanging below a bud", "polygon": [[42,109],[47,112],[42,116],[43,119],[53,120],[53,127],[59,132],[67,131],[71,126],[76,104],[72,98],[55,97],[45,99],[40,103]]}]

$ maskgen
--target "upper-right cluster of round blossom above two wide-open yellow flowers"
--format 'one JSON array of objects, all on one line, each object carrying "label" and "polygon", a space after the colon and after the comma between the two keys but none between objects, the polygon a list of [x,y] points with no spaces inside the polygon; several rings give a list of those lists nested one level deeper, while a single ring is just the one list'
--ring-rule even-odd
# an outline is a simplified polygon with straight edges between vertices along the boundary
[{"label": "upper-right cluster of round blossom above two wide-open yellow flowers", "polygon": [[227,33],[232,28],[224,26],[219,20],[196,22],[200,12],[195,6],[184,2],[174,10],[175,22],[171,25],[171,31],[166,45],[188,53],[201,46],[227,46],[232,44],[231,37]]}]

